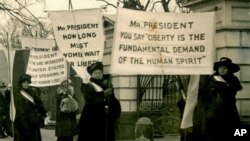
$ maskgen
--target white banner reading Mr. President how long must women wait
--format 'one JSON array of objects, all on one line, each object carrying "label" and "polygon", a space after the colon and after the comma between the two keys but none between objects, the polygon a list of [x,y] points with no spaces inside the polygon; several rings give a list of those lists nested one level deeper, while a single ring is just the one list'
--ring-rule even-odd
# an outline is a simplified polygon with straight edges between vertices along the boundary
[{"label": "white banner reading Mr. President how long must women wait", "polygon": [[86,67],[103,57],[101,9],[53,11],[50,19],[59,50],[83,81],[88,81]]}]

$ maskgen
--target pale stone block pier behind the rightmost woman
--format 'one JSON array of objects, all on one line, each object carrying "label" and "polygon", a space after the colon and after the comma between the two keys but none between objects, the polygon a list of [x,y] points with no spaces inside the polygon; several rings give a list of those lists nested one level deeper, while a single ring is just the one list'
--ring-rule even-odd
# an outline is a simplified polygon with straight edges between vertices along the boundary
[{"label": "pale stone block pier behind the rightmost woman", "polygon": [[237,76],[243,90],[237,94],[237,107],[243,120],[250,117],[250,1],[186,0],[194,12],[215,11],[215,60],[225,56],[240,65]]}]

